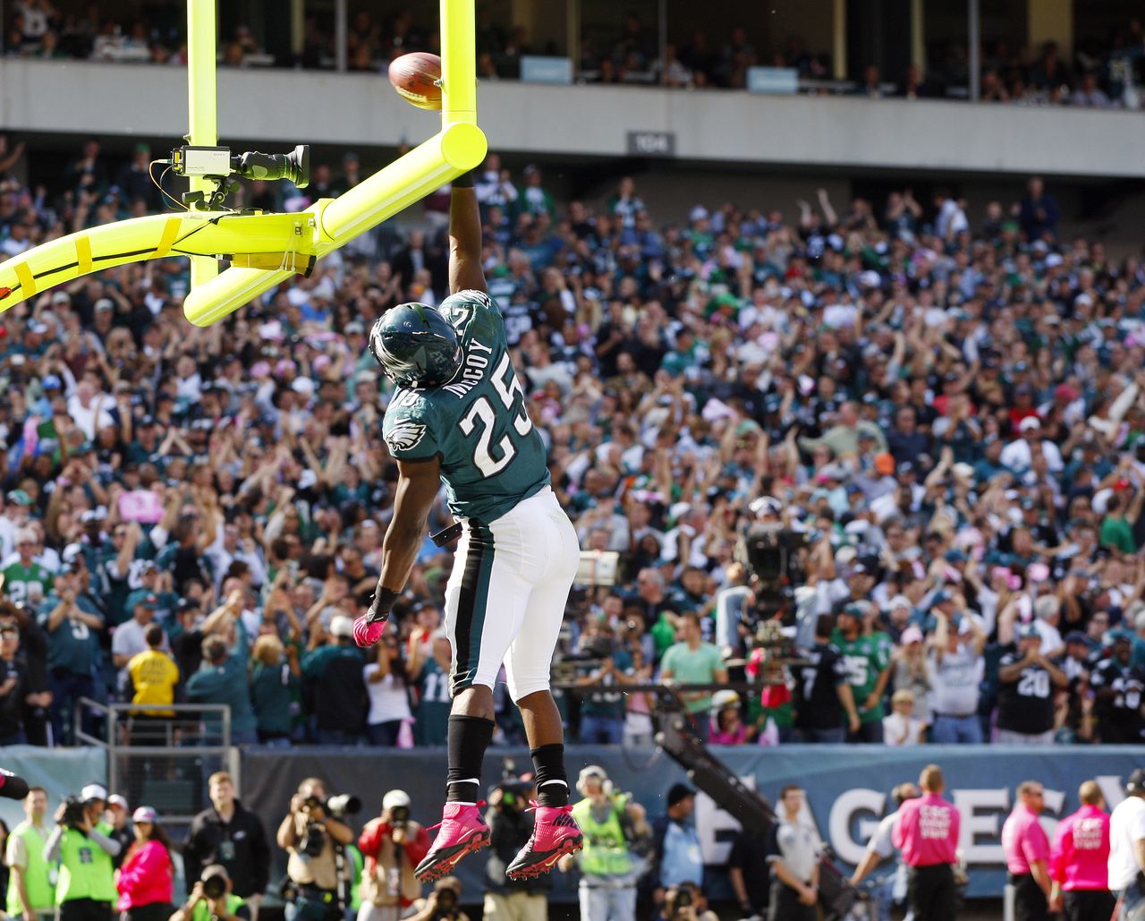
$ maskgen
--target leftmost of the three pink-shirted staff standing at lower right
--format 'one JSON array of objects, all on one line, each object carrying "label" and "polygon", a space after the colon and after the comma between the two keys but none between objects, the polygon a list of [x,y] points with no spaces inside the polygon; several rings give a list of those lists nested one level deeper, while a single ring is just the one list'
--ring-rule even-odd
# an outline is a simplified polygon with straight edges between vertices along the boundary
[{"label": "leftmost of the three pink-shirted staff standing at lower right", "polygon": [[937,764],[918,777],[923,795],[899,806],[892,840],[902,850],[907,871],[907,903],[915,921],[954,921],[954,864],[962,818],[942,798],[946,781]]}]

